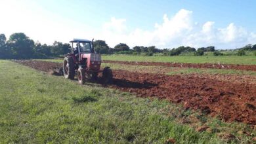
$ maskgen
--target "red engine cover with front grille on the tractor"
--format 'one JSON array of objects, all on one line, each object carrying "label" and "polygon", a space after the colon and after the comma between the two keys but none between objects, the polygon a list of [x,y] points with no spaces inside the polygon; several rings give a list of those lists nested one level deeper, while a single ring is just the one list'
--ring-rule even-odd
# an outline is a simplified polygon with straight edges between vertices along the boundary
[{"label": "red engine cover with front grille on the tractor", "polygon": [[92,70],[99,70],[101,65],[101,55],[100,54],[81,54],[81,59],[87,59],[87,67]]}]

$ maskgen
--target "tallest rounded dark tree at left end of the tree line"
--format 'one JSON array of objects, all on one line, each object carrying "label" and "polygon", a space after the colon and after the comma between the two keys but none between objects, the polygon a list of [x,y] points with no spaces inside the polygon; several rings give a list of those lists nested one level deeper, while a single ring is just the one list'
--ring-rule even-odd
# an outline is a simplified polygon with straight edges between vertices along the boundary
[{"label": "tallest rounded dark tree at left end of the tree line", "polygon": [[33,40],[24,33],[13,33],[7,41],[7,48],[10,48],[13,58],[32,58],[33,47]]}]

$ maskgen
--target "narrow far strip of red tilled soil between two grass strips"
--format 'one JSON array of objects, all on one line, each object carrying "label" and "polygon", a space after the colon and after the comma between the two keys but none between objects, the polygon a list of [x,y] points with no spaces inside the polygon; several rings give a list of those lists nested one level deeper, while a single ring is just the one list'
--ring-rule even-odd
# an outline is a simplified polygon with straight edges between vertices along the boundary
[{"label": "narrow far strip of red tilled soil between two grass strips", "polygon": [[104,60],[105,63],[119,63],[129,65],[155,65],[165,67],[190,67],[190,68],[213,68],[213,69],[240,69],[246,71],[256,71],[256,65],[238,65],[222,63],[169,63],[169,62],[127,62]]}]

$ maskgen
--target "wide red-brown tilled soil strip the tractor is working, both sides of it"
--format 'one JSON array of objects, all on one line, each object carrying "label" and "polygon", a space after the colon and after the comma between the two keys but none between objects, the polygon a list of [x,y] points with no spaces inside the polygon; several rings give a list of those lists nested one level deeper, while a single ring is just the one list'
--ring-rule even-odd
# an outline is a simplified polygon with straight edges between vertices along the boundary
[{"label": "wide red-brown tilled soil strip the tractor is working, both sides of it", "polygon": [[[23,65],[52,71],[61,63],[18,61]],[[218,116],[227,122],[256,124],[256,84],[219,81],[196,75],[162,75],[114,70],[110,85],[140,97],[158,97],[179,103],[186,109],[196,109],[207,115]]]}]

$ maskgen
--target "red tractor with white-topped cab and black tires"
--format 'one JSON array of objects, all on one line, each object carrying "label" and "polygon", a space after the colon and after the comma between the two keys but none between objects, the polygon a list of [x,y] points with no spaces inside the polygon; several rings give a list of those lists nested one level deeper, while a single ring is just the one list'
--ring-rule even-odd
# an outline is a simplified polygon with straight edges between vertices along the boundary
[{"label": "red tractor with white-topped cab and black tires", "polygon": [[[112,70],[105,67],[100,70],[101,56],[94,52],[93,41],[86,39],[73,39],[71,53],[66,54],[63,62],[63,73],[66,79],[74,79],[77,73],[79,84],[85,81],[96,81],[98,73],[102,72],[100,78],[104,84],[112,82]],[[75,48],[74,48],[75,44]]]}]

